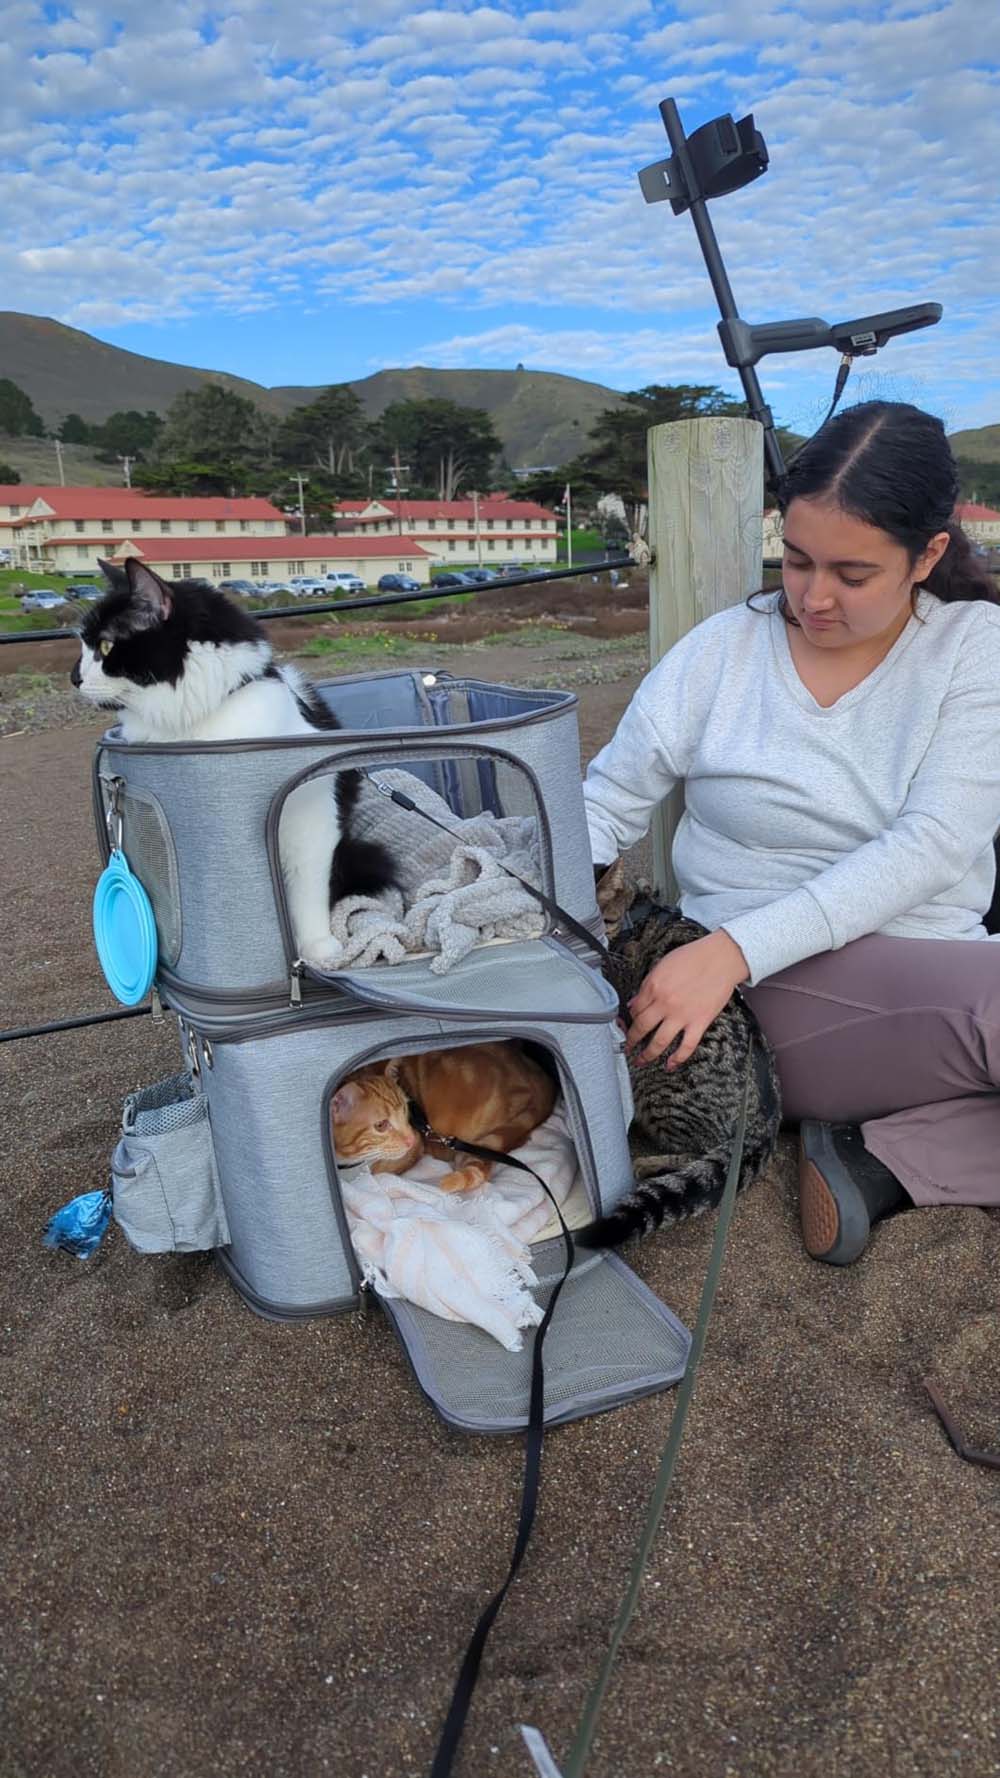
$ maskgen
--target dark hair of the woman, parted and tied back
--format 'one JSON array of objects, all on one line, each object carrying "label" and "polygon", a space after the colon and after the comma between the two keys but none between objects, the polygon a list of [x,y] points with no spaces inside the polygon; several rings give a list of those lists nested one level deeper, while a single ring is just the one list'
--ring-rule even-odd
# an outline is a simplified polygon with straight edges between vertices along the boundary
[{"label": "dark hair of the woman, parted and tied back", "polygon": [[794,500],[829,501],[902,544],[911,565],[947,532],[948,548],[922,587],[945,603],[1000,605],[995,580],[952,516],[957,494],[952,446],[934,414],[909,402],[859,402],[795,452],[778,507],[785,516]]}]

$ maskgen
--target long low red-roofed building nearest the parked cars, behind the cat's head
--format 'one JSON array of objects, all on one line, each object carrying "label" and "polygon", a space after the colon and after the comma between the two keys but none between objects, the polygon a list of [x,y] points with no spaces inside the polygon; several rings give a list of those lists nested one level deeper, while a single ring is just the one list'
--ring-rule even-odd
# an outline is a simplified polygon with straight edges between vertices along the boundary
[{"label": "long low red-roofed building nearest the parked cars, behind the cat's head", "polygon": [[[53,541],[55,544],[60,539]],[[347,569],[374,585],[381,574],[431,578],[431,557],[413,537],[107,537],[101,557],[149,562],[167,580],[272,580]]]}]

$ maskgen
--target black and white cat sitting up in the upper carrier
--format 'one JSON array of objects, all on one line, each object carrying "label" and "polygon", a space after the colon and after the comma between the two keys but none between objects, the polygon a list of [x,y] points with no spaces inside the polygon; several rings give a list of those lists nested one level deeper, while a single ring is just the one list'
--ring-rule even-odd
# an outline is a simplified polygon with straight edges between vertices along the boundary
[{"label": "black and white cat sitting up in the upper carrier", "polygon": [[[101,562],[110,590],[80,624],[71,681],[121,711],[126,741],[231,741],[311,734],[340,724],[295,667],[278,667],[263,629],[206,581],[165,581],[130,557]],[[279,853],[299,957],[336,965],[329,910],[345,894],[397,884],[388,850],[358,839],[358,770],[301,784],[281,814]]]}]

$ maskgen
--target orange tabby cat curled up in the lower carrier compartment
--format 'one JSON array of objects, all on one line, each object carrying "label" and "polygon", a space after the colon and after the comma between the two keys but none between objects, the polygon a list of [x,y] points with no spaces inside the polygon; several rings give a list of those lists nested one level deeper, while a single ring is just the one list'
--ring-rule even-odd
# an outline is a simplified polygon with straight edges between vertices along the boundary
[{"label": "orange tabby cat curled up in the lower carrier compartment", "polygon": [[[411,1101],[438,1134],[509,1152],[544,1124],[555,1092],[555,1081],[516,1044],[391,1056],[358,1069],[336,1088],[329,1108],[333,1152],[345,1165],[367,1161],[375,1173],[406,1173],[422,1154],[454,1159],[450,1149],[413,1129]],[[491,1172],[491,1161],[468,1156],[438,1184],[441,1191],[472,1191]]]}]

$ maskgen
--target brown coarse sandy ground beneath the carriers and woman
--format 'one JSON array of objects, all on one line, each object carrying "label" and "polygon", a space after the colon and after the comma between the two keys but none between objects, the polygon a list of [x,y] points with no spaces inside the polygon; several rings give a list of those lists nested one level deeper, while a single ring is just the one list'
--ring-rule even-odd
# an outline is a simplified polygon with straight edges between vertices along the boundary
[{"label": "brown coarse sandy ground beneath the carriers and woman", "polygon": [[[448,667],[456,670],[454,661]],[[477,674],[527,679],[525,651]],[[580,685],[584,754],[633,677]],[[0,741],[4,1026],[110,1003],[93,958],[93,727]],[[4,1778],[407,1778],[505,1572],[518,1440],[448,1431],[379,1314],[256,1319],[201,1257],[41,1246],[107,1179],[149,1021],[0,1049]],[[714,1221],[635,1269],[694,1319]],[[1000,1773],[1000,1221],[911,1213],[838,1271],[801,1246],[790,1141],[738,1205],[710,1344],[589,1778]],[[673,1412],[550,1435],[534,1543],[459,1771],[568,1746]]]}]

